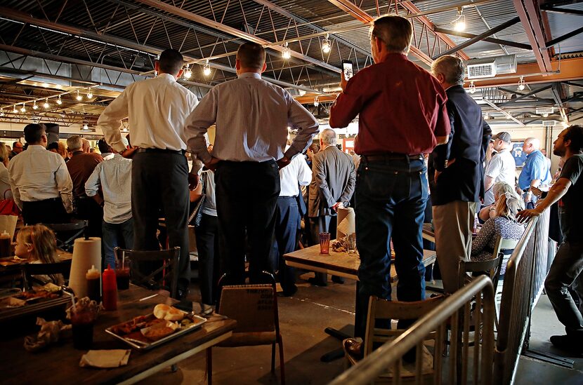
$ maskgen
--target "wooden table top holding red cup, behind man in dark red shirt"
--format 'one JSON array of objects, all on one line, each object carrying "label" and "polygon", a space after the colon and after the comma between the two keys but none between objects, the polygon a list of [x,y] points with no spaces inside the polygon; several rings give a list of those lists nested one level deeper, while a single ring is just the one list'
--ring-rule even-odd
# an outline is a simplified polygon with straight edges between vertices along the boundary
[{"label": "wooden table top holding red cup, behind man in dark red shirt", "polygon": [[[313,245],[309,248],[290,252],[283,257],[289,266],[319,271],[320,273],[330,273],[358,281],[358,267],[360,266],[358,254],[332,250],[330,250],[330,254],[320,254],[320,245]],[[434,261],[435,251],[423,250],[423,264],[428,266]],[[391,264],[391,282],[396,282],[397,278],[395,264]]]}]

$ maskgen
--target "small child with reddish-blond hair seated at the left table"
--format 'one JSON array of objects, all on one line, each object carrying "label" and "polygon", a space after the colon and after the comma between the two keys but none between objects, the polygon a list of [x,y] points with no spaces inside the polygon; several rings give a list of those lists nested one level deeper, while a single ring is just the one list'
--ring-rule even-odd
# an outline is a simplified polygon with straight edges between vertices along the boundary
[{"label": "small child with reddish-blond hair seated at the left table", "polygon": [[[16,236],[15,255],[28,260],[31,264],[48,264],[60,262],[57,256],[57,238],[53,230],[42,224],[25,226]],[[48,276],[34,276],[42,284],[54,283],[63,285],[65,280],[62,274]]]}]

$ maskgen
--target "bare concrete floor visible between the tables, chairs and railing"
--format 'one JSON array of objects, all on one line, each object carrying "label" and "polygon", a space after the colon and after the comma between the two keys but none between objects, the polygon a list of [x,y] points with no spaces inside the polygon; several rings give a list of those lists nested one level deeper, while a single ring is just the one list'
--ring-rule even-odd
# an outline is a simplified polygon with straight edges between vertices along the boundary
[{"label": "bare concrete floor visible between the tables, chairs and railing", "polygon": [[[294,297],[279,297],[280,326],[283,336],[287,384],[327,384],[343,371],[343,360],[322,363],[320,356],[341,347],[339,340],[324,332],[335,327],[353,332],[356,284],[346,280],[343,285],[329,281],[326,288],[307,283],[313,273],[299,276],[299,290]],[[189,299],[199,299],[196,284]],[[532,349],[563,355],[549,342],[551,335],[563,334],[551,304],[542,296],[535,309],[532,324]],[[214,384],[278,384],[280,365],[276,358],[276,373],[270,372],[270,346],[213,349]],[[583,358],[573,358],[572,370],[520,358],[516,384],[583,384]],[[142,384],[204,384],[205,356],[199,353],[178,364],[177,372],[164,370]]]}]

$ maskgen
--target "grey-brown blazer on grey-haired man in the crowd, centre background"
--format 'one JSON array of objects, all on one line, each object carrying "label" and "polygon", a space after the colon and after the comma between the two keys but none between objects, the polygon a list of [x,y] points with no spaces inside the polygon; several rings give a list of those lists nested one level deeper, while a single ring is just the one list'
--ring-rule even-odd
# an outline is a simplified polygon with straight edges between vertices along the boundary
[{"label": "grey-brown blazer on grey-haired man in the crowd, centre background", "polygon": [[336,202],[348,202],[354,192],[356,174],[353,159],[336,146],[314,154],[308,217],[336,215],[330,209]]}]

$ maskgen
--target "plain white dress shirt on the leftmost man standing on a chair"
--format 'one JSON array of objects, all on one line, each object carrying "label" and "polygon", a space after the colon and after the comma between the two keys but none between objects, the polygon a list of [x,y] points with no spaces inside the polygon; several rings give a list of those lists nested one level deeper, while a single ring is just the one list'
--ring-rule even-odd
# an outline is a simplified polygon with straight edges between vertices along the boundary
[{"label": "plain white dress shirt on the leftmost man standing on a chair", "polygon": [[170,74],[130,84],[101,113],[97,126],[118,152],[122,143],[122,119],[129,118],[131,144],[143,149],[186,149],[184,123],[198,103],[195,94]]}]

